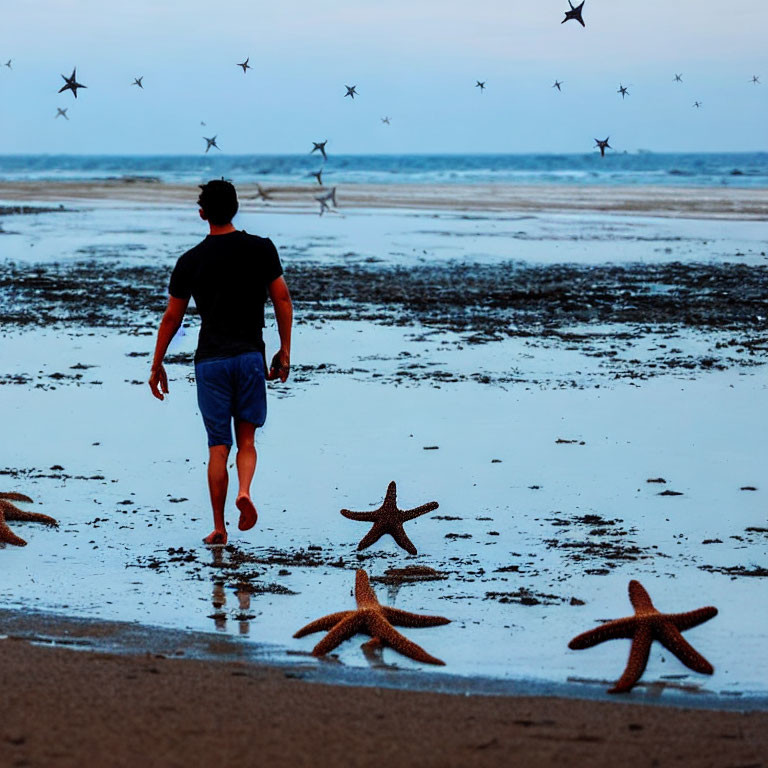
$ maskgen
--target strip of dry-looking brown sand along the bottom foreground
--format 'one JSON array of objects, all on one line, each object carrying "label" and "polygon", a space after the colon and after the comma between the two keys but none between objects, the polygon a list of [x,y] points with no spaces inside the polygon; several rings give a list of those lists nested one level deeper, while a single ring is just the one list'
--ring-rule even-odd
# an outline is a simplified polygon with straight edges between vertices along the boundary
[{"label": "strip of dry-looking brown sand along the bottom foreground", "polygon": [[761,766],[768,713],[308,683],[0,640],[0,766]]}]

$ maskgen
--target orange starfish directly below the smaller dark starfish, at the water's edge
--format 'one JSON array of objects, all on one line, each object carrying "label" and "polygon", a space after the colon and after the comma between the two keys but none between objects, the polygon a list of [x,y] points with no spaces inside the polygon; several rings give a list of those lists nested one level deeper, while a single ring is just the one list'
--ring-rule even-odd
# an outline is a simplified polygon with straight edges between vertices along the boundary
[{"label": "orange starfish directly below the smaller dark starfish, at the water's edge", "polygon": [[381,605],[376,593],[368,580],[368,574],[361,568],[355,576],[355,600],[357,610],[340,611],[323,616],[302,627],[294,637],[304,637],[312,632],[330,630],[328,634],[312,649],[313,656],[324,656],[336,646],[358,632],[370,635],[371,639],[363,648],[373,649],[379,645],[388,645],[398,653],[409,656],[425,664],[440,664],[445,662],[428,654],[421,646],[411,642],[401,635],[392,625],[399,627],[437,627],[450,624],[450,619],[442,616],[420,616],[417,613],[401,611]]}]

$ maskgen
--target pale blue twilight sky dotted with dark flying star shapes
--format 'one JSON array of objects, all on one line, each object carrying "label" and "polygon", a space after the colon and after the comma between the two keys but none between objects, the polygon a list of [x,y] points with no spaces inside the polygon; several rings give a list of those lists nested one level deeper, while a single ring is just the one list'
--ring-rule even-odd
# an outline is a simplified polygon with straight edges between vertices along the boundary
[{"label": "pale blue twilight sky dotted with dark flying star shapes", "polygon": [[[586,0],[586,29],[560,24],[567,7],[9,3],[0,152],[196,154],[213,134],[232,154],[301,153],[326,138],[337,154],[590,152],[606,135],[617,150],[768,150],[764,0]],[[74,66],[88,86],[77,100],[56,93]],[[143,91],[130,86],[139,75]],[[345,84],[357,85],[354,102]],[[59,106],[69,122],[53,119]]]}]

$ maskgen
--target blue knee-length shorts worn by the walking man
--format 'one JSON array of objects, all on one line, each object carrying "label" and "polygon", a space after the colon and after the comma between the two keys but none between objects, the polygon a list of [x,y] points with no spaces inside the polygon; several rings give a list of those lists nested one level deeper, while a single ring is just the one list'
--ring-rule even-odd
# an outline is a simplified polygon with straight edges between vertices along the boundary
[{"label": "blue knee-length shorts worn by the walking man", "polygon": [[267,385],[261,352],[195,363],[197,404],[208,445],[232,445],[232,419],[257,427],[267,420]]}]

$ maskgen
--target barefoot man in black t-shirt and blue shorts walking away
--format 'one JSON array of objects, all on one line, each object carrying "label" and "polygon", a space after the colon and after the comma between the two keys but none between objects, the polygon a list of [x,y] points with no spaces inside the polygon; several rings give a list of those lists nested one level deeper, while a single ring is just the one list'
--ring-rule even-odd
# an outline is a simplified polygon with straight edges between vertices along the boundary
[{"label": "barefoot man in black t-shirt and blue shorts walking away", "polygon": [[[237,193],[228,181],[201,185],[200,218],[210,234],[176,262],[168,288],[168,307],[157,333],[149,377],[152,394],[168,394],[163,358],[181,326],[190,297],[202,320],[195,353],[197,402],[208,433],[208,486],[214,529],[203,541],[226,544],[224,504],[227,498],[227,458],[232,447],[232,420],[237,439],[239,489],[235,504],[238,527],[256,524],[251,480],[256,470],[253,437],[267,416],[265,379],[285,382],[290,370],[293,306],[277,249],[271,240],[237,230]],[[272,299],[280,333],[280,349],[266,371],[264,303]]]}]

